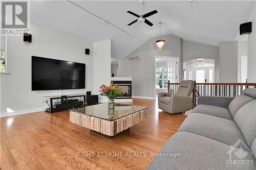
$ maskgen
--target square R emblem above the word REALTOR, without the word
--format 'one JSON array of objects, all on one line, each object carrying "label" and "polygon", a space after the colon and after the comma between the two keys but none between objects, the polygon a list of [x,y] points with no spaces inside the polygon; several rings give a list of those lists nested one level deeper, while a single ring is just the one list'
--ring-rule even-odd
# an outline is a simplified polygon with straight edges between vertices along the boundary
[{"label": "square R emblem above the word REALTOR, without the word", "polygon": [[28,3],[2,2],[2,28],[27,28]]}]

